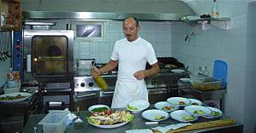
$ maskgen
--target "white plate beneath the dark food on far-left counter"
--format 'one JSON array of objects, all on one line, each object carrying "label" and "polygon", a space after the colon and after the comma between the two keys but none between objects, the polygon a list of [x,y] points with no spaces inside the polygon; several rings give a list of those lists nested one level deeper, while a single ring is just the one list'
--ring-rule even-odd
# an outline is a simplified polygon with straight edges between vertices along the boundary
[{"label": "white plate beneath the dark food on far-left counter", "polygon": [[31,94],[27,93],[27,92],[15,92],[15,93],[9,93],[9,94],[0,95],[0,97],[15,96],[15,95],[22,95],[22,96],[26,96],[26,97],[20,98],[20,99],[15,99],[15,100],[9,100],[9,101],[0,101],[0,102],[3,102],[3,103],[15,103],[15,102],[20,102],[20,101],[25,101],[25,100],[27,100],[27,98],[29,98],[31,96]]}]

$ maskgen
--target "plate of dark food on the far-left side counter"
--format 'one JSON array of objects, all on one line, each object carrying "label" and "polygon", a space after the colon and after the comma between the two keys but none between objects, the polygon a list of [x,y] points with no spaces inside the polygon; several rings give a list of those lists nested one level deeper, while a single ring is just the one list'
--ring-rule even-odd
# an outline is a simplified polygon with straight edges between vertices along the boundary
[{"label": "plate of dark food on the far-left side counter", "polygon": [[15,103],[20,101],[25,101],[30,96],[31,94],[27,92],[8,93],[8,94],[0,95],[0,102]]}]

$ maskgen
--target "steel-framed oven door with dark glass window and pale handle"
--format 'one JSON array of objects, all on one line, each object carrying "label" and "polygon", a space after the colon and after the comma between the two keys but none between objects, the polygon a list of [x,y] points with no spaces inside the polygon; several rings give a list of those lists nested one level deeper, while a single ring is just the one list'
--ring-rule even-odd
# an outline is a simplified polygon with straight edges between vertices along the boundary
[{"label": "steel-framed oven door with dark glass window and pale handle", "polygon": [[74,31],[25,30],[24,82],[70,82],[73,79]]}]

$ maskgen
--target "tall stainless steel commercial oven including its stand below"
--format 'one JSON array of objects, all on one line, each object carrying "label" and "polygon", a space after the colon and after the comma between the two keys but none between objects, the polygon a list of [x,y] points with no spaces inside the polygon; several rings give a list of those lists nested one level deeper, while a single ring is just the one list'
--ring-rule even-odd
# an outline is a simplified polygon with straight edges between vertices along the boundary
[{"label": "tall stainless steel commercial oven including its stand below", "polygon": [[74,31],[23,31],[22,84],[41,84],[44,112],[73,109]]}]

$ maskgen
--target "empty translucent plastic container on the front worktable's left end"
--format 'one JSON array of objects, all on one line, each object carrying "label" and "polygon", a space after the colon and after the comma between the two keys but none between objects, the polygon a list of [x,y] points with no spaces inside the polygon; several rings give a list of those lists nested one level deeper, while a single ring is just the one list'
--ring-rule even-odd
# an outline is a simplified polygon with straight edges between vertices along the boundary
[{"label": "empty translucent plastic container on the front worktable's left end", "polygon": [[63,133],[66,130],[67,116],[67,111],[48,113],[39,124],[43,125],[44,133]]}]

